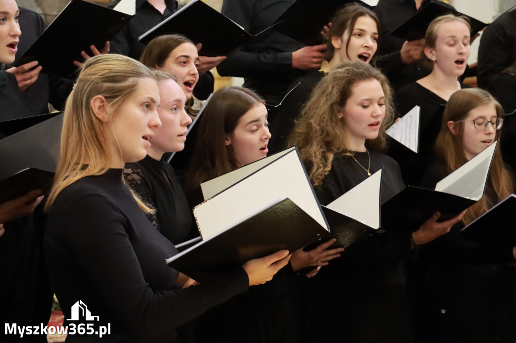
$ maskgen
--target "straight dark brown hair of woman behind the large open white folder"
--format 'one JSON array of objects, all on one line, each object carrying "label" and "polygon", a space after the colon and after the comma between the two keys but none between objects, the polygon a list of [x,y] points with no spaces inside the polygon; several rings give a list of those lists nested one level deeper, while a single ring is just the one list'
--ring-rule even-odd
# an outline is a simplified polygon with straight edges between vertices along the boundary
[{"label": "straight dark brown hair of woman behind the large open white folder", "polygon": [[197,191],[206,180],[238,167],[233,146],[225,145],[225,135],[232,134],[247,111],[264,100],[242,87],[221,88],[213,94],[202,113],[195,152],[190,161],[184,188],[187,194]]}]

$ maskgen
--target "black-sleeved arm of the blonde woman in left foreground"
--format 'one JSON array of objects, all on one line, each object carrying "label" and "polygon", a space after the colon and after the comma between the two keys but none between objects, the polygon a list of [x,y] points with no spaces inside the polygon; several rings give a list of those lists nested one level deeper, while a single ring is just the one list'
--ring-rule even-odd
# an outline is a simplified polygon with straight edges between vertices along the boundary
[{"label": "black-sleeved arm of the blonde woman in left foreground", "polygon": [[[213,282],[154,291],[143,276],[125,230],[127,219],[104,196],[78,197],[62,220],[63,226],[73,225],[73,230],[63,230],[67,248],[74,252],[87,280],[117,321],[138,337],[167,335],[173,328],[248,288],[247,274],[238,268]],[[156,265],[154,272],[173,279],[170,273],[177,272],[166,268]]]}]

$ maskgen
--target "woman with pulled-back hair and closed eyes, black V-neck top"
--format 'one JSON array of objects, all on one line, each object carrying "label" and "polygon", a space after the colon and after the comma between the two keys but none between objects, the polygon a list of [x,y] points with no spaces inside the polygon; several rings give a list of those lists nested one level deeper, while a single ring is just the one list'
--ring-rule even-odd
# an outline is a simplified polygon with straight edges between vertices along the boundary
[{"label": "woman with pulled-back hair and closed eyes, black V-neck top", "polygon": [[389,152],[400,164],[405,183],[417,185],[431,160],[432,147],[439,131],[436,113],[451,94],[466,88],[458,81],[470,57],[470,24],[466,19],[447,14],[434,19],[425,35],[425,54],[432,64],[430,75],[396,91],[396,111],[405,115],[414,106],[421,108],[420,151],[414,158]]}]

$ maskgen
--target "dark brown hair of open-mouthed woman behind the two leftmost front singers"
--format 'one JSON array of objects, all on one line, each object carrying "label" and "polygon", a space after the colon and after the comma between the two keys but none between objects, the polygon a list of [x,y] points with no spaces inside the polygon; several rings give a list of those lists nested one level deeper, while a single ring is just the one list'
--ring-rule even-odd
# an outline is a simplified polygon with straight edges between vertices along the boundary
[{"label": "dark brown hair of open-mouthed woman behind the two leftmost front singers", "polygon": [[[140,62],[149,68],[163,68],[170,53],[183,43],[190,43],[195,46],[191,40],[183,35],[158,36],[143,49]],[[193,97],[186,100],[186,110],[189,114],[196,115],[199,111],[193,108],[193,102]]]}]

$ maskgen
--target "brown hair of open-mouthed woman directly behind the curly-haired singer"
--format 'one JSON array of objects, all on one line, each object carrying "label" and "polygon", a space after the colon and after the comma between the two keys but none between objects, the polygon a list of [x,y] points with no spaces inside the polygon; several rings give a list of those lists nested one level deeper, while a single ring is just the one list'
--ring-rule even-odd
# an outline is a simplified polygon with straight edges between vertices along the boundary
[{"label": "brown hair of open-mouthed woman directly behind the curly-haired singer", "polygon": [[[351,35],[353,33],[354,25],[357,23],[357,20],[362,16],[368,16],[376,22],[376,27],[378,31],[380,31],[380,21],[378,20],[378,16],[372,10],[361,6],[356,3],[348,4],[344,6],[342,9],[338,10],[331,19],[331,28],[325,34],[326,45],[328,46],[326,49],[326,60],[330,61],[333,58],[333,54],[335,54],[335,47],[331,42],[331,38],[341,37],[344,35],[344,32],[348,31],[348,40],[345,44],[346,56],[348,56],[348,46],[349,40],[351,39]],[[348,56],[349,58],[349,56]],[[374,64],[376,60],[376,55],[373,56],[371,62]]]}]

